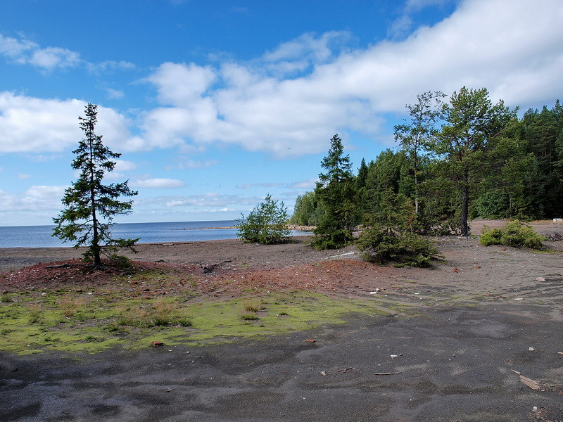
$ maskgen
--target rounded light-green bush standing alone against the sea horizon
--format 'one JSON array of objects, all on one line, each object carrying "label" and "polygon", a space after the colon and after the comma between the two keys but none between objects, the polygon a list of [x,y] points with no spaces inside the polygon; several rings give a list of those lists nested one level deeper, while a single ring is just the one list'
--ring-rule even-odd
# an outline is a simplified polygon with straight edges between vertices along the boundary
[{"label": "rounded light-green bush standing alone against the sea horizon", "polygon": [[272,200],[268,194],[263,203],[258,204],[248,217],[237,221],[239,233],[236,236],[246,242],[255,242],[262,245],[284,243],[289,241],[291,231],[287,226],[289,215],[284,203],[278,205],[277,200]]}]

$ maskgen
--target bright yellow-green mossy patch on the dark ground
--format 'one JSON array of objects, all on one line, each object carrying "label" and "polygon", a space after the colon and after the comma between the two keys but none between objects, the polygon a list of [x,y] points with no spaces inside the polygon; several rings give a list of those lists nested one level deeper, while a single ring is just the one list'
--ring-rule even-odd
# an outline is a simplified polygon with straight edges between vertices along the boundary
[{"label": "bright yellow-green mossy patch on the dark ground", "polygon": [[[232,300],[106,298],[76,291],[13,293],[0,302],[0,350],[31,354],[96,353],[110,347],[139,349],[205,345],[343,324],[350,314],[396,312],[379,298],[334,298],[293,290]],[[253,318],[244,319],[243,314]]]}]

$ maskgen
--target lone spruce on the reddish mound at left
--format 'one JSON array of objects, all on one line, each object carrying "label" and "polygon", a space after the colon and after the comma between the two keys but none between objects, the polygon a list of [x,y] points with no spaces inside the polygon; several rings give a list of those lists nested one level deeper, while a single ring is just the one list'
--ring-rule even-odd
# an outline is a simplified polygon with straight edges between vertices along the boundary
[{"label": "lone spruce on the reddish mound at left", "polygon": [[110,229],[114,215],[127,215],[131,212],[132,200],[121,201],[120,196],[135,196],[127,186],[127,181],[118,184],[103,184],[106,172],[115,168],[115,160],[121,154],[113,153],[103,145],[102,136],[96,135],[97,106],[85,107],[86,117],[78,117],[84,138],[72,153],[72,169],[80,170],[78,179],[65,191],[61,200],[65,209],[53,218],[56,227],[53,236],[63,241],[75,242],[75,248],[87,246],[84,258],[94,267],[101,266],[101,255],[118,258],[118,248],[133,249],[139,239],[113,239]]}]

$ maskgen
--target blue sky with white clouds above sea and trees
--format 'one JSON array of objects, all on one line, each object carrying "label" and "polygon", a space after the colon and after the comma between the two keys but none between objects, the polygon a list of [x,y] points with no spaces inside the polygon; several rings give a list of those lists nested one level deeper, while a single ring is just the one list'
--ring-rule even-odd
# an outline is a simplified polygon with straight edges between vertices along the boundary
[{"label": "blue sky with white clouds above sea and trees", "polygon": [[[138,191],[115,222],[291,214],[338,133],[353,168],[396,148],[417,94],[563,94],[561,0],[0,0],[0,226],[52,224],[98,105]],[[124,198],[125,199],[125,198]]]}]

